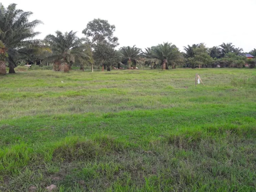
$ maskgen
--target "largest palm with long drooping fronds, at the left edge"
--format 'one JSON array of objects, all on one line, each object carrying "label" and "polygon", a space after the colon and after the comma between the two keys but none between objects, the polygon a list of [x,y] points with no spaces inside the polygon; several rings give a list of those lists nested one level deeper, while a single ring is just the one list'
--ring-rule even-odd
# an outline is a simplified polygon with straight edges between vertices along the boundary
[{"label": "largest palm with long drooping fronds, at the left edge", "polygon": [[15,73],[15,59],[18,55],[32,53],[35,47],[45,48],[42,40],[34,39],[40,33],[33,29],[42,22],[29,22],[28,18],[33,13],[16,9],[16,5],[12,3],[4,7],[0,3],[0,41],[3,45],[0,48],[0,62],[1,67],[3,63],[9,63],[9,73]]}]

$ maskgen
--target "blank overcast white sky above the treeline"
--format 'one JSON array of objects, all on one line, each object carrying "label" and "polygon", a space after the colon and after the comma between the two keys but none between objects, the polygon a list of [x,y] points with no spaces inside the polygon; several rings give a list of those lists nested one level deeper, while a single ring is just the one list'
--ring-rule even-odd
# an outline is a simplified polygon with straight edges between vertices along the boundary
[{"label": "blank overcast white sky above the treeline", "polygon": [[[245,52],[256,48],[256,0],[0,0],[4,6],[34,12],[44,22],[44,38],[56,30],[82,30],[94,18],[116,26],[120,46],[151,47],[171,42],[183,50],[204,42],[208,47],[232,42]],[[119,47],[120,47],[119,46]]]}]

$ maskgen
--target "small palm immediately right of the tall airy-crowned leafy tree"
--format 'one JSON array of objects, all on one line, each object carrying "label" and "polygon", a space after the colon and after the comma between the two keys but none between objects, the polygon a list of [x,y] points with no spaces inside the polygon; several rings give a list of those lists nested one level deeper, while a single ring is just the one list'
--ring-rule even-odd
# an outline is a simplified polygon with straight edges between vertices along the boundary
[{"label": "small palm immediately right of the tall airy-crowned leafy tree", "polygon": [[128,68],[131,67],[132,61],[134,61],[134,67],[136,67],[136,59],[138,59],[141,56],[141,49],[133,45],[133,47],[130,47],[130,46],[121,47],[119,51],[123,59],[128,59],[127,61]]}]

